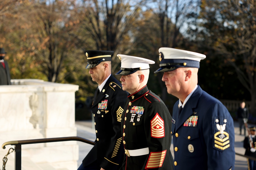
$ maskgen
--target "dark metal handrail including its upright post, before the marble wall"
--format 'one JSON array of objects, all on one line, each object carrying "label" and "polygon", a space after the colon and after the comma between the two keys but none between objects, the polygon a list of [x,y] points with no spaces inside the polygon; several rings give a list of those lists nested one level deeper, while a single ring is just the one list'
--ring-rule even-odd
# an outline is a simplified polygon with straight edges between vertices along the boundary
[{"label": "dark metal handrail including its upright post, before the marble wall", "polygon": [[91,140],[77,137],[77,136],[71,136],[71,137],[60,137],[60,138],[44,138],[44,139],[8,141],[8,142],[3,143],[2,148],[5,149],[6,145],[15,145],[15,155],[14,155],[15,170],[21,170],[21,145],[33,144],[33,143],[72,141],[72,140],[88,143],[90,145],[95,145],[95,143]]}]

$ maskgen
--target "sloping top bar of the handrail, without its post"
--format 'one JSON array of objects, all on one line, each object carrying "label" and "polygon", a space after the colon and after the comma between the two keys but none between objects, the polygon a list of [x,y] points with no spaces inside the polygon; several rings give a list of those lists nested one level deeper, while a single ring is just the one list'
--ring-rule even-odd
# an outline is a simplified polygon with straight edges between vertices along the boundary
[{"label": "sloping top bar of the handrail, without its post", "polygon": [[29,139],[29,140],[8,141],[8,142],[5,142],[2,145],[2,148],[5,149],[6,145],[17,145],[17,144],[26,145],[26,144],[33,144],[33,143],[61,142],[61,141],[71,141],[71,140],[80,141],[80,142],[88,143],[88,144],[91,144],[91,145],[95,145],[95,143],[91,140],[81,138],[81,137],[77,137],[77,136],[71,136],[71,137],[60,137],[60,138],[44,138],[44,139]]}]

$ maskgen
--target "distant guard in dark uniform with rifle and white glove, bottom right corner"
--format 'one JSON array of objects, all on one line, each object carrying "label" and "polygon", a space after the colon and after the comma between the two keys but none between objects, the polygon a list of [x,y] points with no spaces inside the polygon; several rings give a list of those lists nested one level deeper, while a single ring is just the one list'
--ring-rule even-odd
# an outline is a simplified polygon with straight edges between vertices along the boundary
[{"label": "distant guard in dark uniform with rifle and white glove, bottom right corner", "polygon": [[[250,134],[244,138],[243,147],[246,149],[244,155],[256,158],[256,127],[250,127]],[[256,170],[256,161],[247,158],[248,170]]]}]

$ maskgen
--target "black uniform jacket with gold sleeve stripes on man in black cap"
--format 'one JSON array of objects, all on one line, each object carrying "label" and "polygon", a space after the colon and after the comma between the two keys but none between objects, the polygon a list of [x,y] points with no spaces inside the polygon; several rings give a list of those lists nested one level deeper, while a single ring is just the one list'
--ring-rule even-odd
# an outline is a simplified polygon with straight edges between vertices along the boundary
[{"label": "black uniform jacket with gold sleeve stripes on man in black cap", "polygon": [[120,168],[124,154],[121,145],[121,116],[126,99],[127,92],[122,90],[122,84],[111,75],[98,97],[94,97],[92,114],[97,139],[84,158],[83,166],[97,161],[105,170]]}]

